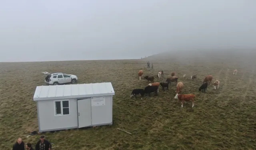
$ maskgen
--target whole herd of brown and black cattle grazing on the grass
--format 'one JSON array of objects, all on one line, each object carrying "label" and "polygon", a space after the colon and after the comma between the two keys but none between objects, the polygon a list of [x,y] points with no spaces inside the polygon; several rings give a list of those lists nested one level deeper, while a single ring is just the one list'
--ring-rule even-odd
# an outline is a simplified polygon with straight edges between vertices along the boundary
[{"label": "whole herd of brown and black cattle grazing on the grass", "polygon": [[[233,72],[234,75],[237,74],[237,70],[234,70]],[[134,89],[132,90],[132,93],[130,95],[130,98],[134,97],[137,98],[137,95],[141,95],[141,99],[143,98],[144,95],[148,94],[150,96],[151,93],[155,93],[156,96],[158,94],[159,91],[159,86],[162,86],[162,90],[168,90],[169,89],[169,84],[171,85],[171,82],[175,82],[176,84],[176,95],[174,96],[174,99],[178,99],[181,102],[181,107],[183,107],[184,102],[189,102],[192,101],[192,108],[194,107],[194,99],[195,99],[195,95],[194,94],[180,94],[182,92],[182,89],[184,87],[182,82],[178,82],[178,77],[174,76],[175,72],[171,73],[171,76],[168,77],[166,79],[165,82],[154,82],[154,76],[143,76],[144,72],[143,70],[140,70],[139,73],[139,80],[141,80],[141,78],[144,77],[144,79],[148,80],[148,82],[150,81],[151,83],[148,84],[148,86],[146,86],[144,89]],[[163,71],[159,71],[157,74],[157,77],[160,79],[162,78],[162,76],[164,75]],[[186,74],[183,75],[183,78],[186,78]],[[208,75],[204,78],[204,80],[202,81],[202,85],[198,88],[198,91],[202,91],[202,92],[206,92],[208,84],[211,84],[212,82],[212,75]],[[196,80],[196,75],[191,76],[192,81]],[[177,83],[178,82],[178,83]],[[220,81],[216,80],[213,83],[213,88],[216,90],[216,88],[218,89],[220,86]]]}]

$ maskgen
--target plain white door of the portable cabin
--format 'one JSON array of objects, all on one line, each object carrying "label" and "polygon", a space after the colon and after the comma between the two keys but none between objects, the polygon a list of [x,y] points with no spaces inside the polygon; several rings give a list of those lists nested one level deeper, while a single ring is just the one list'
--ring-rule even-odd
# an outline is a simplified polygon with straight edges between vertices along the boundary
[{"label": "plain white door of the portable cabin", "polygon": [[78,128],[91,126],[92,115],[91,115],[91,99],[77,100],[78,108]]}]

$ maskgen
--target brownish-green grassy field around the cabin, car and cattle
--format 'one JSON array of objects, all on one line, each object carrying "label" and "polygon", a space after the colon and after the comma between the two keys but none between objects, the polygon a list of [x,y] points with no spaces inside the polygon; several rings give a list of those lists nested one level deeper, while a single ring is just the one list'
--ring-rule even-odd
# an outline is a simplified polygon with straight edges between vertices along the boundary
[{"label": "brownish-green grassy field around the cabin, car and cattle", "polygon": [[[47,71],[75,74],[78,83],[112,82],[116,93],[112,126],[44,133],[54,150],[255,150],[255,56],[176,52],[142,60],[0,63],[0,149],[11,149],[18,137],[35,146],[39,135],[26,136],[38,130],[33,95],[36,86],[45,85],[41,72]],[[154,69],[146,68],[148,60]],[[169,91],[160,88],[158,96],[130,98],[134,88],[149,83],[138,80],[140,69],[154,76],[159,70],[169,76],[175,71],[184,83],[182,94],[196,94],[195,107],[192,102],[180,107],[173,84]],[[183,79],[183,74],[189,78]],[[190,80],[191,74],[197,75],[196,82]],[[220,88],[198,92],[208,74],[220,81]]]}]

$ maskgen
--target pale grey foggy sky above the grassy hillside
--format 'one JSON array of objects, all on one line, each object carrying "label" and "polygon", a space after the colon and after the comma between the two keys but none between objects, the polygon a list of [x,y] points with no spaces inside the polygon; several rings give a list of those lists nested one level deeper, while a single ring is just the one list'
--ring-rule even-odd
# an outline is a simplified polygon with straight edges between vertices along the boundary
[{"label": "pale grey foggy sky above the grassy hillside", "polygon": [[255,0],[2,0],[0,62],[256,48]]}]

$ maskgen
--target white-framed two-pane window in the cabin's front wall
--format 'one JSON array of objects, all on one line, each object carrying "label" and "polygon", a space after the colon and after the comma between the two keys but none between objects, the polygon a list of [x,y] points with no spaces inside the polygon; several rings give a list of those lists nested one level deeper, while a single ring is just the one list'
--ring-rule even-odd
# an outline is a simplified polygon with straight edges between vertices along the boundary
[{"label": "white-framed two-pane window in the cabin's front wall", "polygon": [[69,100],[56,100],[54,101],[54,116],[70,115]]}]

